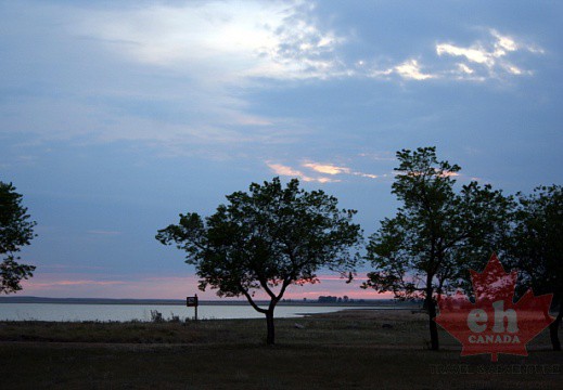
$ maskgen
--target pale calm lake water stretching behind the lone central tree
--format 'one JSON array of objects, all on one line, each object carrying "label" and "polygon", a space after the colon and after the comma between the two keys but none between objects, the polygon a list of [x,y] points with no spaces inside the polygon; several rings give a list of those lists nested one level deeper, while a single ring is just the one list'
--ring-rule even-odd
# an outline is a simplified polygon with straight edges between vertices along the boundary
[{"label": "pale calm lake water stretching behind the lone central tree", "polygon": [[[298,317],[307,313],[329,313],[344,309],[378,309],[376,307],[290,307],[276,308],[276,317]],[[388,308],[387,308],[388,309]],[[163,313],[165,318],[172,314],[181,320],[193,317],[194,308],[163,304],[61,304],[61,303],[0,303],[0,321],[151,321],[151,310]],[[200,306],[199,318],[263,318],[249,306]]]}]

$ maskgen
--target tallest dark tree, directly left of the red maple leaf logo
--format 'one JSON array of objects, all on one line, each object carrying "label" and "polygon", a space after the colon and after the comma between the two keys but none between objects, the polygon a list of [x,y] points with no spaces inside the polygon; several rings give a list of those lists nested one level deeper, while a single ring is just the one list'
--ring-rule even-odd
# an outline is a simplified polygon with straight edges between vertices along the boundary
[{"label": "tallest dark tree, directly left of the red maple leaf logo", "polygon": [[438,161],[435,147],[397,152],[392,193],[402,203],[369,239],[375,271],[363,288],[398,299],[424,299],[431,348],[437,350],[436,299],[469,278],[469,266],[488,259],[506,236],[511,199],[472,181],[455,191],[460,167]]}]

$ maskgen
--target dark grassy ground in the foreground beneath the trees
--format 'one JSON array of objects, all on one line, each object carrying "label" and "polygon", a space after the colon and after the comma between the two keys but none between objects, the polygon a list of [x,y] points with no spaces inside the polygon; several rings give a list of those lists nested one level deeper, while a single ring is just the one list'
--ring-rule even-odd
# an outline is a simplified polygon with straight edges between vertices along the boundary
[{"label": "dark grassy ground in the foreground beneath the trees", "polygon": [[490,363],[487,355],[460,358],[446,333],[443,350],[428,351],[426,326],[410,311],[278,320],[277,346],[267,347],[263,320],[0,323],[0,388],[563,388],[563,355],[550,350],[546,333],[529,356]]}]

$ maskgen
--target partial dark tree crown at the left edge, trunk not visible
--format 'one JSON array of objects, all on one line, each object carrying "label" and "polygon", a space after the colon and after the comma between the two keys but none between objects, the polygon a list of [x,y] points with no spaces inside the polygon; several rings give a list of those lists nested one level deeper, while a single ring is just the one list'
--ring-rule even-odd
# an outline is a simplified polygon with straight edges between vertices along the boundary
[{"label": "partial dark tree crown at the left edge, trunk not visible", "polygon": [[0,292],[21,290],[20,282],[33,276],[35,266],[20,263],[16,255],[35,237],[36,222],[29,218],[12,183],[0,182]]}]

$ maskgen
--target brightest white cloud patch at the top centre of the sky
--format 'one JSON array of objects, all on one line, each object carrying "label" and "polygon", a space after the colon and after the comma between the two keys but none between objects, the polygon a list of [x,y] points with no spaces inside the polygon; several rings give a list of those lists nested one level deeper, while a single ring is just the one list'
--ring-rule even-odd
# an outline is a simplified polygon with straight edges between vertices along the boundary
[{"label": "brightest white cloud patch at the top centre of the sky", "polygon": [[345,39],[302,1],[206,1],[89,11],[76,30],[129,61],[217,81],[327,78]]}]

